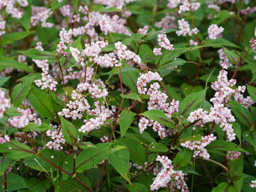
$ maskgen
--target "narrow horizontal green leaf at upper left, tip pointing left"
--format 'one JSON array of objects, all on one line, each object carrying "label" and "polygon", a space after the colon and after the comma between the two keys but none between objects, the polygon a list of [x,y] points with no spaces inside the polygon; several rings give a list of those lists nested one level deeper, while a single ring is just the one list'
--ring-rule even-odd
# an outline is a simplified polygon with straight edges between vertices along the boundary
[{"label": "narrow horizontal green leaf at upper left, tip pointing left", "polygon": [[36,59],[36,60],[44,60],[44,59],[49,59],[49,60],[55,60],[57,59],[54,54],[52,54],[49,51],[39,51],[37,49],[30,49],[27,51],[18,51],[18,53],[25,54],[31,59]]}]

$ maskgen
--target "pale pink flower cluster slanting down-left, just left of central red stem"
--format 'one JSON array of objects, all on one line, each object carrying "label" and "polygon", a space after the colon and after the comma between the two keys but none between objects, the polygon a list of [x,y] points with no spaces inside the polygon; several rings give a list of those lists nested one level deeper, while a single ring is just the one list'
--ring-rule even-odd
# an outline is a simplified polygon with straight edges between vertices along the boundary
[{"label": "pale pink flower cluster slanting down-left, just left of central red stem", "polygon": [[92,109],[89,113],[89,115],[96,116],[95,118],[90,118],[89,120],[84,119],[84,125],[81,126],[80,129],[78,129],[79,132],[85,133],[90,132],[94,129],[100,129],[100,126],[105,123],[107,118],[115,113],[115,106],[111,106],[111,110],[108,111],[108,109],[105,106],[102,106],[99,101],[94,102],[95,109]]}]

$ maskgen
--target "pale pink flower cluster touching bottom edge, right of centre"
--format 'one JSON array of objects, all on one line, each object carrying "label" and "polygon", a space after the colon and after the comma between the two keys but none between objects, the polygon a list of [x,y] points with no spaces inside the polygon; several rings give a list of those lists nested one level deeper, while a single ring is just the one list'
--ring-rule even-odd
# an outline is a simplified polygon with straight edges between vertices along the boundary
[{"label": "pale pink flower cluster touching bottom edge, right of centre", "polygon": [[185,182],[184,176],[187,175],[182,171],[174,170],[172,166],[172,161],[166,156],[157,156],[156,161],[162,163],[161,171],[156,171],[156,177],[152,185],[150,185],[150,190],[157,190],[160,187],[169,187],[170,191],[175,191],[175,188],[181,190],[182,192],[187,192],[188,187]]}]

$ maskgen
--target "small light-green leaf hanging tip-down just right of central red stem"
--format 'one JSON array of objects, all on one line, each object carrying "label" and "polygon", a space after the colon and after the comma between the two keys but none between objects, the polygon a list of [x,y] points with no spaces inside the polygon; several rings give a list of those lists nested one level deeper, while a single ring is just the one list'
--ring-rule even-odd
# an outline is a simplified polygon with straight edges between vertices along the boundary
[{"label": "small light-green leaf hanging tip-down just right of central red stem", "polygon": [[132,124],[134,116],[136,116],[136,114],[129,109],[125,109],[121,112],[119,119],[121,138],[124,137],[124,134],[129,129],[129,126]]}]

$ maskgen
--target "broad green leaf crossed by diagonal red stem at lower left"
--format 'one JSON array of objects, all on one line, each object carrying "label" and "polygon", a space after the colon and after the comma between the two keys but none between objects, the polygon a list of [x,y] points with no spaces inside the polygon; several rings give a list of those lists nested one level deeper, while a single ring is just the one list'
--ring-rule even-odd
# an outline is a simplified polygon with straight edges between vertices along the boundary
[{"label": "broad green leaf crossed by diagonal red stem at lower left", "polygon": [[[62,165],[67,155],[59,150],[52,150],[52,149],[41,149],[39,153],[44,156],[46,159],[54,163],[55,165]],[[35,159],[37,161],[35,161]],[[39,155],[33,155],[24,159],[24,162],[27,164],[28,167],[38,170],[38,171],[51,171],[51,169],[55,169],[53,165],[45,161]],[[38,163],[40,164],[38,164]],[[43,168],[42,168],[43,167]]]}]

